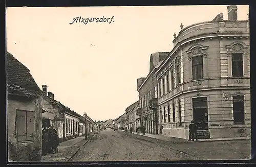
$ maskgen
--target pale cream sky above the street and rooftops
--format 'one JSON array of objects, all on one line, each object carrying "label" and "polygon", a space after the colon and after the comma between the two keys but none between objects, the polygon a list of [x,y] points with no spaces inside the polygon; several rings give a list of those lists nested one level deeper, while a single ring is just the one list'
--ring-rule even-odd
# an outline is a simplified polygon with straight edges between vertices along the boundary
[{"label": "pale cream sky above the street and rooftops", "polygon": [[[248,11],[239,5],[238,20],[246,20]],[[55,100],[105,121],[139,100],[137,78],[149,73],[152,53],[172,51],[181,23],[210,21],[220,12],[227,19],[227,7],[220,5],[7,8],[7,51]],[[80,16],[114,17],[72,23]]]}]

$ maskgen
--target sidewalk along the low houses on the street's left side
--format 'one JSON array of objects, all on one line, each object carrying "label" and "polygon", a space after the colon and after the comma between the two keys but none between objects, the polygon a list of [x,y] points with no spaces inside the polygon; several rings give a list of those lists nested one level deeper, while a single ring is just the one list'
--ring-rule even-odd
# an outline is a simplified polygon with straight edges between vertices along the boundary
[{"label": "sidewalk along the low houses on the street's left side", "polygon": [[88,134],[88,140],[85,140],[84,136],[79,136],[67,141],[63,141],[58,146],[58,153],[56,154],[48,154],[46,156],[42,156],[41,162],[46,161],[68,161],[83,145],[87,144],[90,138],[98,133],[99,131],[91,132]]}]

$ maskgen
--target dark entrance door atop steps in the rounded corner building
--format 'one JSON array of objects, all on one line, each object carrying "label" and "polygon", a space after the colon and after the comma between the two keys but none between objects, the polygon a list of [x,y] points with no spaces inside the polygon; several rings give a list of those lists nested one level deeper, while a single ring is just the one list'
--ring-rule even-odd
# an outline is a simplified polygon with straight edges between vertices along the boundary
[{"label": "dark entrance door atop steps in the rounded corner building", "polygon": [[193,116],[198,130],[208,130],[207,98],[193,99]]}]

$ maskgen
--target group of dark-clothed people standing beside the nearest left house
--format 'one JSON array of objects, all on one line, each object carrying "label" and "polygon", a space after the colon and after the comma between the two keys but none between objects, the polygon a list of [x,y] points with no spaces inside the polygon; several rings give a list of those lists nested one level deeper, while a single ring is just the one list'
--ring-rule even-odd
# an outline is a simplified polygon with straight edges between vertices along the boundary
[{"label": "group of dark-clothed people standing beside the nearest left house", "polygon": [[57,131],[46,123],[42,125],[42,155],[58,152],[59,137]]}]

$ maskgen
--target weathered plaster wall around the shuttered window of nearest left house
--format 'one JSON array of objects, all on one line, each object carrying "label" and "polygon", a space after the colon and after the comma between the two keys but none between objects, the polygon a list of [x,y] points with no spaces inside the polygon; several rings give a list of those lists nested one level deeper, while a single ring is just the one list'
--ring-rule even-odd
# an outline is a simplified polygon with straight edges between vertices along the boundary
[{"label": "weathered plaster wall around the shuttered window of nearest left house", "polygon": [[[9,161],[40,161],[41,159],[41,109],[40,100],[22,102],[7,101],[8,116],[8,160]],[[16,136],[16,109],[34,111],[34,140],[17,141]]]}]

